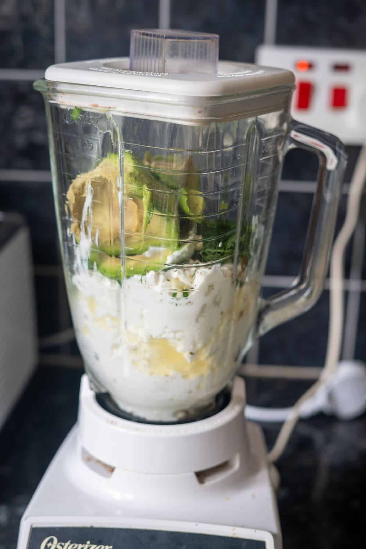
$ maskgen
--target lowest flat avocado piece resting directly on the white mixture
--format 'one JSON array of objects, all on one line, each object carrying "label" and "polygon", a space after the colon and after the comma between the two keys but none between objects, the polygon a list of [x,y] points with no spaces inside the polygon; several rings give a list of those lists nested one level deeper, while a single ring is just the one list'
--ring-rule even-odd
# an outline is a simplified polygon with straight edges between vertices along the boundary
[{"label": "lowest flat avocado piece resting directly on the white mixture", "polygon": [[[126,277],[146,275],[149,271],[160,271],[172,250],[160,249],[153,251],[149,256],[139,254],[126,256]],[[123,266],[120,257],[111,257],[103,252],[93,251],[89,257],[89,268],[97,270],[104,276],[115,280],[123,278]]]}]

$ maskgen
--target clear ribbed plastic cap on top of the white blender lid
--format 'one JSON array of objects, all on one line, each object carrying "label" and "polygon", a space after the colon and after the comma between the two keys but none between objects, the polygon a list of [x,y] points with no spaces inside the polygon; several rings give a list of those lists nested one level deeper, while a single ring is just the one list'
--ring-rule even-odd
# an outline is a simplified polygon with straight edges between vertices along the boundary
[{"label": "clear ribbed plastic cap on top of the white blender lid", "polygon": [[129,68],[138,72],[217,74],[218,35],[179,30],[133,30]]}]

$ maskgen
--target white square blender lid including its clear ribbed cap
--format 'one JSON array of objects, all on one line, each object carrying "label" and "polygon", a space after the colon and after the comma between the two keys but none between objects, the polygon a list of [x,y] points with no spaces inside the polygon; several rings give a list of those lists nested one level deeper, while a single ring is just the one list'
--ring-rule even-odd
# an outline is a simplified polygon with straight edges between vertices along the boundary
[{"label": "white square blender lid including its clear ribbed cap", "polygon": [[130,57],[52,65],[46,80],[185,97],[219,97],[293,87],[284,69],[218,61],[218,36],[174,30],[134,30]]}]

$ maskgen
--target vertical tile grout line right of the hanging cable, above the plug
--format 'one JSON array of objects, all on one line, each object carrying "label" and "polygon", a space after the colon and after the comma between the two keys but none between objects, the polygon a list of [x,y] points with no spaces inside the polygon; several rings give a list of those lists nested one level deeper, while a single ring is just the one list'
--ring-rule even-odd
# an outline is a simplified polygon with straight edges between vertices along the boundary
[{"label": "vertical tile grout line right of the hanging cable, above the plug", "polygon": [[[362,265],[364,259],[365,244],[365,220],[360,218],[353,236],[352,259],[351,259],[351,281],[360,281],[362,278]],[[357,326],[359,318],[359,305],[361,301],[361,288],[359,291],[351,292],[348,295],[347,310],[344,326],[343,360],[353,360],[356,350]]]}]

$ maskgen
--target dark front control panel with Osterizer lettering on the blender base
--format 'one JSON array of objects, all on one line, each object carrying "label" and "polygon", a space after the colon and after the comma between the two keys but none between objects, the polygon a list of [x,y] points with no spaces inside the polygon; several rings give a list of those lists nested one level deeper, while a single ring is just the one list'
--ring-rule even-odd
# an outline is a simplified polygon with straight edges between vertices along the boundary
[{"label": "dark front control panel with Osterizer lettering on the blender base", "polygon": [[[272,549],[265,540],[245,539],[222,526],[228,535],[139,528],[90,526],[33,527],[27,549]],[[230,536],[229,536],[230,532]],[[266,533],[264,533],[266,534]],[[268,534],[267,534],[268,535]],[[271,536],[272,537],[272,536]]]}]

